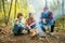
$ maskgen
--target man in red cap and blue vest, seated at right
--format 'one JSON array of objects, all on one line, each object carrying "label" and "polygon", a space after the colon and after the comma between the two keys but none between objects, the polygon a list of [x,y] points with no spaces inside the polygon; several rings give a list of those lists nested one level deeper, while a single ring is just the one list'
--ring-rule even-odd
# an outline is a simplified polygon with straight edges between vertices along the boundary
[{"label": "man in red cap and blue vest, seated at right", "polygon": [[49,9],[46,6],[43,9],[44,12],[41,13],[41,22],[39,23],[40,28],[42,29],[42,31],[46,34],[46,28],[44,26],[49,26],[51,27],[51,31],[50,34],[53,35],[54,34],[54,20],[53,20],[53,14],[51,11],[49,11]]}]

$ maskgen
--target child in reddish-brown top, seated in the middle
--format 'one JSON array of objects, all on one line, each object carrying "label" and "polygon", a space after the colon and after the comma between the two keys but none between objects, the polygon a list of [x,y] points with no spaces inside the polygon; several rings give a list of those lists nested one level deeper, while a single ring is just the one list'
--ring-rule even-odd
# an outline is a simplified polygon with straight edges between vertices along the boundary
[{"label": "child in reddish-brown top, seated in the middle", "polygon": [[29,13],[29,17],[26,19],[25,25],[28,29],[28,33],[30,32],[30,29],[34,29],[36,27],[36,20],[34,19],[34,16],[31,13]]}]

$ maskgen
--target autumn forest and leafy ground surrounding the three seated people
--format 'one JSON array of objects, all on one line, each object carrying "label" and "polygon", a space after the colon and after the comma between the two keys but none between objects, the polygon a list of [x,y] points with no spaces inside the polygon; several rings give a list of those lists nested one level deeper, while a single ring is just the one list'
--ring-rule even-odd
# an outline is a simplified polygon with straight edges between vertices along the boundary
[{"label": "autumn forest and leafy ground surrounding the three seated people", "polygon": [[[18,12],[24,18],[31,12],[37,19],[44,6],[54,15],[55,35],[46,40],[34,40],[29,35],[15,37],[12,34],[12,23]],[[24,22],[25,23],[25,22]],[[21,39],[23,38],[23,39]],[[27,39],[27,40],[26,40]],[[0,0],[0,43],[65,43],[65,0]]]}]

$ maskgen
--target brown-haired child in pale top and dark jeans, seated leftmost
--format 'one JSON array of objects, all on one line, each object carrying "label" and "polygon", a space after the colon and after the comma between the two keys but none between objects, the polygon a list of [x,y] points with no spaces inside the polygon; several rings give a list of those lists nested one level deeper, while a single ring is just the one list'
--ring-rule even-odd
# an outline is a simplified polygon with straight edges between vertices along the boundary
[{"label": "brown-haired child in pale top and dark jeans, seated leftmost", "polygon": [[23,14],[17,13],[17,18],[14,20],[13,33],[14,35],[24,34],[23,30],[24,30]]}]

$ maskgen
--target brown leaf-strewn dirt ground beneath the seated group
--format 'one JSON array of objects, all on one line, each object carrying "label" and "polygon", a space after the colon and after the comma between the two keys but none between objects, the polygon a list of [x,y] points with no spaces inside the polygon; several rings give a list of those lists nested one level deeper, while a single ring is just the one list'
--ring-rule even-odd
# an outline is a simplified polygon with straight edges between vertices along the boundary
[{"label": "brown leaf-strewn dirt ground beneath the seated group", "polygon": [[54,35],[48,34],[46,38],[29,34],[13,35],[12,27],[0,27],[0,43],[65,43],[65,30],[56,30]]}]

